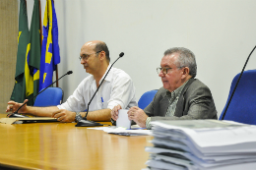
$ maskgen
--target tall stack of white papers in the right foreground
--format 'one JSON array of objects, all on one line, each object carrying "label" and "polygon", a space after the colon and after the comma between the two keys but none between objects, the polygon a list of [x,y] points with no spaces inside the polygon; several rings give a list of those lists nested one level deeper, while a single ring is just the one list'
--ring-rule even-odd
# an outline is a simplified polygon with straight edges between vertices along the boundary
[{"label": "tall stack of white papers in the right foreground", "polygon": [[149,169],[255,169],[256,126],[231,121],[157,121]]}]

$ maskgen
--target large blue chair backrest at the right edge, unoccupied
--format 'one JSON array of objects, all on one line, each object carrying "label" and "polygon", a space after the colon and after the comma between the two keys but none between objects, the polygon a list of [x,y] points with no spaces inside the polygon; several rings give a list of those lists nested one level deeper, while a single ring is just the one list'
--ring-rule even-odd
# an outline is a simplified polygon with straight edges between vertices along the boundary
[{"label": "large blue chair backrest at the right edge, unoccupied", "polygon": [[[233,78],[226,104],[239,76],[240,74],[237,74]],[[224,110],[220,116],[220,120],[222,120],[223,114]],[[224,120],[256,125],[256,70],[243,72],[225,113]]]}]

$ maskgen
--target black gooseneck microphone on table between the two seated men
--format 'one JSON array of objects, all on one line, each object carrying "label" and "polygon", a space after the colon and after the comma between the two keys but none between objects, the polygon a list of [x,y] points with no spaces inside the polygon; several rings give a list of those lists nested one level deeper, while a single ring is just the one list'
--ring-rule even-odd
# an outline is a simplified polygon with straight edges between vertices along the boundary
[{"label": "black gooseneck microphone on table between the two seated men", "polygon": [[[114,61],[114,63],[115,63],[119,58],[123,57],[123,55],[124,55],[124,53],[121,52],[121,53],[119,54],[119,57]],[[110,66],[110,68],[109,68],[108,71],[106,72],[104,78],[102,79],[101,83],[100,83],[100,84],[98,85],[98,87],[96,88],[96,92],[97,92],[97,90],[99,89],[99,87],[102,85],[102,83],[104,82],[105,77],[107,76],[108,72],[111,70],[111,68],[112,68],[112,66],[114,65],[114,63]],[[94,99],[94,97],[96,96],[96,92],[94,93],[93,97],[91,98],[91,100],[90,100],[89,103],[88,103],[86,116],[85,116],[82,120],[80,120],[80,121],[77,123],[76,127],[96,127],[96,126],[103,126],[102,124],[99,124],[99,123],[97,123],[97,122],[87,120],[87,115],[88,115],[88,112],[89,112],[89,106],[90,106],[92,100]]]}]

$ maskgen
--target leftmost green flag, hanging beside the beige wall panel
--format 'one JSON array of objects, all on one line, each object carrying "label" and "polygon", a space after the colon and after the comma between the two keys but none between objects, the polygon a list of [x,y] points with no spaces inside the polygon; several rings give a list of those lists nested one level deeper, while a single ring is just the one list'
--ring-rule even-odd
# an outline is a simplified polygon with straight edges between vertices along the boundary
[{"label": "leftmost green flag, hanging beside the beige wall panel", "polygon": [[16,102],[24,102],[24,73],[27,47],[29,44],[29,28],[27,5],[25,0],[20,0],[20,16],[19,16],[19,32],[18,32],[18,52],[15,74],[15,85],[11,95],[11,100]]}]

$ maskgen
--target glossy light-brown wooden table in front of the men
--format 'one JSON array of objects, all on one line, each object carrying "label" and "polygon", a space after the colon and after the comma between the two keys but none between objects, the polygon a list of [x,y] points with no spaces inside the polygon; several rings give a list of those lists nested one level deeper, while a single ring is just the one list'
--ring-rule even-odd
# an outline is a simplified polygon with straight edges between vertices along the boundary
[{"label": "glossy light-brown wooden table in front of the men", "polygon": [[[0,114],[5,117],[6,114]],[[145,168],[151,136],[123,137],[75,123],[0,124],[0,164],[25,169]]]}]

